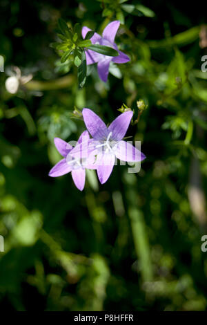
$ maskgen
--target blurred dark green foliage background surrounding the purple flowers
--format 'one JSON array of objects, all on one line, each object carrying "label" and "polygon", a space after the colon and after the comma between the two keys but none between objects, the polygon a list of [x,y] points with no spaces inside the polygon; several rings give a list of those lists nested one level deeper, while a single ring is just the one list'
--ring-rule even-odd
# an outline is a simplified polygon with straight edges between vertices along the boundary
[{"label": "blurred dark green foliage background surrounding the purple flowers", "polygon": [[[206,310],[204,10],[161,0],[1,0],[0,12],[1,308]],[[119,19],[116,42],[130,62],[110,67],[106,84],[88,66],[79,89],[77,67],[49,46],[59,18],[99,33]],[[83,192],[70,175],[48,177],[60,159],[53,138],[77,140],[83,107],[111,121],[121,106],[134,109],[127,136],[147,156],[139,174],[117,166],[100,186],[88,171]]]}]

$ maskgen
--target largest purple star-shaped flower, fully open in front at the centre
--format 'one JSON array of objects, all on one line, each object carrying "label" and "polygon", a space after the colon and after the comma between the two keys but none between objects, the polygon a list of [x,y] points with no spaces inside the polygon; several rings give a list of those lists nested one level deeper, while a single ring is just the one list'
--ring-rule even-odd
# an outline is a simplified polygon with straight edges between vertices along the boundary
[{"label": "largest purple star-shaped flower, fully open in front at the centre", "polygon": [[[92,139],[88,147],[96,155],[97,174],[101,184],[106,183],[115,165],[115,158],[128,162],[144,160],[146,156],[130,142],[122,140],[126,134],[133,112],[121,113],[109,127],[90,109],[83,109],[83,120]],[[73,156],[79,156],[81,148],[77,146],[72,151]],[[83,151],[82,151],[83,152]]]}]

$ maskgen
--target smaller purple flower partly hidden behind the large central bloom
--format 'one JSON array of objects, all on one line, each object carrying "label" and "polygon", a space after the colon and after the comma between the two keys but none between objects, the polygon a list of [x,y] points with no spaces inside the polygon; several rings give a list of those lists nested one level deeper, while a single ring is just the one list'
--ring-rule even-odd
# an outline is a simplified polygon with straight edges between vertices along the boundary
[{"label": "smaller purple flower partly hidden behind the large central bloom", "polygon": [[[84,148],[88,146],[89,134],[88,131],[84,131],[79,140],[77,141],[77,146]],[[69,145],[66,141],[61,140],[60,138],[55,138],[55,147],[64,158],[59,161],[52,169],[50,170],[49,176],[58,177],[65,174],[72,174],[72,179],[76,185],[76,187],[82,191],[85,185],[86,180],[86,168],[87,169],[96,169],[92,160],[89,158],[84,158],[83,156],[79,156],[79,158],[75,158],[70,155],[70,152],[75,149],[71,145]],[[76,146],[76,147],[77,147]],[[90,156],[91,157],[91,156]]]}]

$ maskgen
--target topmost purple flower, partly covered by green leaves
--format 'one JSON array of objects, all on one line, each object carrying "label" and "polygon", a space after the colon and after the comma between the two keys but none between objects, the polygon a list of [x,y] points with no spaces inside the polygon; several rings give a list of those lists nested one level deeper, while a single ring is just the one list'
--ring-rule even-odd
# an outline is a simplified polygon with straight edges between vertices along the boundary
[{"label": "topmost purple flower, partly covered by green leaves", "polygon": [[[117,48],[117,44],[115,44],[115,36],[117,34],[119,25],[120,25],[119,20],[112,21],[103,30],[102,37],[99,34],[97,34],[97,32],[95,32],[95,34],[90,39],[92,44],[99,44],[99,45],[104,45],[104,46],[109,46],[111,48],[114,48],[119,53],[117,57],[109,57],[108,55],[99,54],[92,50],[85,51],[87,65],[97,63],[99,77],[101,80],[103,80],[103,82],[106,82],[108,79],[108,70],[111,61],[115,63],[126,63],[130,60],[128,55],[121,52],[121,50]],[[89,30],[90,28],[86,26],[82,28],[83,38],[86,37],[86,34]]]}]

